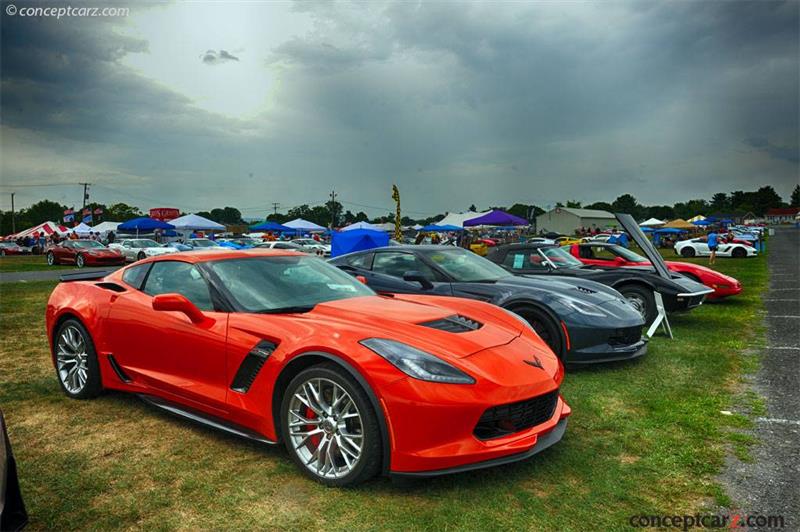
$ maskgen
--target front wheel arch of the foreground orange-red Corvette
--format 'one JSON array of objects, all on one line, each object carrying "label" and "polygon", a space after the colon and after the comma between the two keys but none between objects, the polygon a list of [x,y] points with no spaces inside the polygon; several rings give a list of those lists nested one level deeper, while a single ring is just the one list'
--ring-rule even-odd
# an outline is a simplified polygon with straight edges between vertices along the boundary
[{"label": "front wheel arch of the foreground orange-red Corvette", "polygon": [[278,374],[277,379],[275,379],[275,386],[272,390],[272,423],[275,427],[275,440],[281,441],[281,423],[280,423],[280,407],[281,403],[283,402],[283,396],[286,392],[286,387],[289,385],[289,382],[301,371],[306,368],[310,368],[312,366],[316,366],[318,364],[323,364],[325,362],[333,362],[340,368],[347,371],[347,373],[353,377],[356,382],[361,386],[364,390],[364,393],[367,394],[369,398],[370,404],[372,405],[372,409],[375,411],[375,415],[378,417],[378,427],[380,429],[380,436],[381,436],[381,472],[383,474],[389,473],[389,467],[391,463],[391,439],[389,435],[389,427],[386,423],[386,416],[381,407],[381,402],[378,399],[378,396],[375,394],[372,387],[367,382],[367,379],[361,374],[358,369],[353,367],[349,362],[344,360],[343,358],[336,356],[331,353],[327,353],[324,351],[309,351],[306,353],[301,353],[299,355],[294,356],[286,365],[281,369],[280,374]]}]

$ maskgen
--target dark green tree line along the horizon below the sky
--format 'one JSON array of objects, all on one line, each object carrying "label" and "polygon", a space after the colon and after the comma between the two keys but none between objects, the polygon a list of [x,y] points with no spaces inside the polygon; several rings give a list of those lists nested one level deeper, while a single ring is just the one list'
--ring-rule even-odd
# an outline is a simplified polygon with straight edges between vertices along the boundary
[{"label": "dark green tree line along the horizon below the sky", "polygon": [[[638,220],[647,218],[659,218],[661,220],[673,220],[675,218],[690,218],[696,214],[709,215],[744,215],[752,212],[756,216],[763,216],[767,210],[776,207],[800,207],[800,185],[792,191],[789,202],[784,202],[775,189],[769,185],[760,187],[755,191],[736,190],[733,192],[718,192],[710,199],[697,198],[685,202],[675,203],[674,205],[642,205],[631,194],[623,194],[611,203],[598,201],[584,205],[580,201],[570,200],[564,203],[558,202],[555,207],[571,207],[584,209],[598,209],[609,212],[626,212]],[[86,205],[92,213],[101,210],[102,214],[93,215],[93,223],[103,220],[124,222],[131,218],[144,216],[138,207],[126,203],[115,203],[105,205],[103,203],[90,203]],[[511,206],[489,206],[488,209],[502,209],[515,216],[526,219],[533,219],[543,214],[545,210],[539,205],[515,203]],[[64,218],[66,205],[61,205],[55,201],[42,200],[34,203],[28,208],[20,209],[15,213],[15,227],[17,231],[40,224],[45,221],[60,222]],[[470,211],[476,212],[478,208],[470,205]],[[182,213],[183,214],[183,213]],[[200,216],[213,220],[224,225],[242,225],[242,213],[235,207],[222,207],[211,209],[210,211],[200,211]],[[429,216],[427,218],[411,218],[403,216],[403,225],[421,224],[426,225],[436,223],[444,218],[446,213]],[[81,209],[75,210],[75,219],[80,221],[82,218]],[[289,209],[286,213],[272,213],[266,216],[266,220],[286,223],[295,218],[303,218],[323,227],[341,227],[354,222],[371,223],[394,223],[394,213],[387,212],[382,216],[369,217],[365,212],[358,211],[353,213],[345,210],[338,201],[328,201],[322,205],[299,205]],[[0,234],[10,234],[11,212],[0,210]]]}]

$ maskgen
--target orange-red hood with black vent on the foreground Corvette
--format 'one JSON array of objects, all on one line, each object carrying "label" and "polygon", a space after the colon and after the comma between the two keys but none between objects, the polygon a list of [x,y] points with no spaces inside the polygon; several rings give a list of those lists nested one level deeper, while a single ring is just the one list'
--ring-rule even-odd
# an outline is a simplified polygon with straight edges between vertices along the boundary
[{"label": "orange-red hood with black vent on the foreground Corvette", "polygon": [[[240,314],[237,327],[248,329],[248,332],[256,335],[272,335],[277,325],[291,337],[309,336],[317,339],[330,336],[339,339],[348,335],[359,339],[385,338],[443,358],[455,359],[508,344],[522,332],[523,325],[515,318],[497,318],[497,312],[502,311],[474,304],[468,304],[464,310],[459,308],[459,302],[463,300],[456,298],[436,300],[434,304],[415,301],[413,296],[403,299],[357,297],[320,303],[302,314]],[[455,315],[481,325],[478,329],[465,332],[450,332],[436,327],[438,320]]]}]

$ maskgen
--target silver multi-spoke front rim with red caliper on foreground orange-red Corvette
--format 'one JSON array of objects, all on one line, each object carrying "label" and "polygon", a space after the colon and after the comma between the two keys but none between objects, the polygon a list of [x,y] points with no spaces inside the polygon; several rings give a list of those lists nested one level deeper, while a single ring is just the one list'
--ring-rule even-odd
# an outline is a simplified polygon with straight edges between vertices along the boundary
[{"label": "silver multi-spoke front rim with red caliper on foreground orange-red Corvette", "polygon": [[348,475],[358,464],[364,423],[350,394],[336,382],[311,378],[289,401],[288,437],[305,467],[324,479]]}]

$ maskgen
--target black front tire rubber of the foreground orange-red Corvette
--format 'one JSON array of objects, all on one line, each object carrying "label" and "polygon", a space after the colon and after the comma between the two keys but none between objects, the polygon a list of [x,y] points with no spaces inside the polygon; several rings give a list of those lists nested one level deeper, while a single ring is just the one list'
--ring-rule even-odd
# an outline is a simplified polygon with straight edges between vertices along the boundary
[{"label": "black front tire rubber of the foreground orange-red Corvette", "polygon": [[[337,478],[320,476],[312,471],[309,466],[306,466],[305,461],[298,454],[301,452],[299,449],[303,449],[305,445],[299,449],[295,448],[292,438],[290,437],[289,409],[294,394],[300,391],[303,384],[318,379],[333,381],[340,388],[344,389],[355,404],[361,422],[361,454],[355,462],[355,465],[352,466],[352,469],[343,476]],[[283,399],[281,400],[279,416],[281,436],[286,450],[295,464],[297,464],[297,467],[308,477],[317,482],[325,484],[326,486],[353,486],[369,480],[380,471],[382,463],[381,432],[375,410],[372,408],[372,403],[361,385],[358,384],[345,369],[337,364],[332,362],[319,364],[298,373],[286,387]],[[321,425],[318,424],[317,426],[319,427]],[[309,442],[309,444],[311,443],[313,442]],[[318,445],[317,448],[321,448],[321,445]],[[328,449],[330,449],[330,447]]]}]

